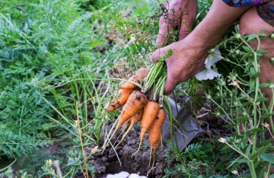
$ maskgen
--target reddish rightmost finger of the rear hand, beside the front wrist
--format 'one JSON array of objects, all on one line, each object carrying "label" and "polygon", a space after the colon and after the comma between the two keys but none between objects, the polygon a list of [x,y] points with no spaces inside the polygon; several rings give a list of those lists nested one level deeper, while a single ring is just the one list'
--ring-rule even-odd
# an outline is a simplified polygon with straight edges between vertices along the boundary
[{"label": "reddish rightmost finger of the rear hand, beside the front wrist", "polygon": [[179,32],[179,40],[183,40],[190,34],[197,16],[197,0],[189,0],[188,2],[182,4],[185,5],[182,7],[183,14]]}]

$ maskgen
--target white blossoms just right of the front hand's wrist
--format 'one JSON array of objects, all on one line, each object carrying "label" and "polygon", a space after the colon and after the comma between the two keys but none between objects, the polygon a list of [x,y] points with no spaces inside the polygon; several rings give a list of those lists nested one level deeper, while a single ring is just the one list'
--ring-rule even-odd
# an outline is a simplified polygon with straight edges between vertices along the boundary
[{"label": "white blossoms just right of the front hand's wrist", "polygon": [[211,68],[215,63],[221,60],[219,58],[220,51],[218,49],[215,50],[214,54],[208,55],[208,57],[205,60],[205,66],[203,67],[203,70],[201,70],[199,73],[195,75],[195,77],[198,80],[207,80],[207,79],[214,79],[214,77],[220,77],[221,74],[218,73],[217,68]]}]

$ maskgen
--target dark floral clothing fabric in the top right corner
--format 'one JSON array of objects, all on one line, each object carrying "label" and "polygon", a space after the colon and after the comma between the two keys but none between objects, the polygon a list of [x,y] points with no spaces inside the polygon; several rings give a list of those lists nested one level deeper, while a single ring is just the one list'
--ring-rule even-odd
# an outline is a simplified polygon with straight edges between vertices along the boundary
[{"label": "dark floral clothing fabric in the top right corner", "polygon": [[274,0],[223,0],[232,7],[257,5],[258,15],[267,23],[274,26]]}]

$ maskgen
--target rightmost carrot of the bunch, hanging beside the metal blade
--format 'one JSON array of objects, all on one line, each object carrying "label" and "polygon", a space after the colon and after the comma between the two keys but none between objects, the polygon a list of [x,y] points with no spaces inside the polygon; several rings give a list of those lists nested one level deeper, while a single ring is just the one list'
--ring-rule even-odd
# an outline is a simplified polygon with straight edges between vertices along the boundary
[{"label": "rightmost carrot of the bunch, hanging beside the metal blade", "polygon": [[148,132],[148,137],[149,137],[152,150],[155,150],[161,141],[162,126],[164,124],[164,119],[165,119],[165,111],[163,108],[161,108]]}]

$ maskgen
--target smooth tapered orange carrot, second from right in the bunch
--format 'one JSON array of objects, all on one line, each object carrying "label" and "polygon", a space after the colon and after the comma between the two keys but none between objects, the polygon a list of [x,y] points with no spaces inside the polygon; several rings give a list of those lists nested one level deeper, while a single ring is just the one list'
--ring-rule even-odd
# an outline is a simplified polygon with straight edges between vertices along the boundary
[{"label": "smooth tapered orange carrot, second from right in the bunch", "polygon": [[140,144],[138,147],[137,152],[139,151],[141,147],[141,143],[144,137],[144,134],[148,129],[151,127],[153,124],[154,120],[156,119],[158,112],[159,112],[159,104],[153,101],[147,102],[145,108],[144,108],[144,113],[143,113],[143,118],[142,118],[142,123],[141,123],[141,133],[140,133]]}]

